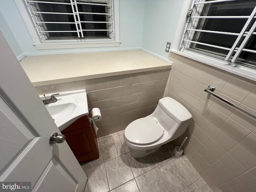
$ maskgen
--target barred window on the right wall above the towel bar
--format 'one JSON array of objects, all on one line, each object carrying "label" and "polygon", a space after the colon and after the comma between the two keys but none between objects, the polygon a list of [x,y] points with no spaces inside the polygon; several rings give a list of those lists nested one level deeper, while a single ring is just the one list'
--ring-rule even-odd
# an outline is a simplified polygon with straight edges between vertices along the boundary
[{"label": "barred window on the right wall above the towel bar", "polygon": [[195,0],[180,50],[256,68],[255,14],[255,0]]}]

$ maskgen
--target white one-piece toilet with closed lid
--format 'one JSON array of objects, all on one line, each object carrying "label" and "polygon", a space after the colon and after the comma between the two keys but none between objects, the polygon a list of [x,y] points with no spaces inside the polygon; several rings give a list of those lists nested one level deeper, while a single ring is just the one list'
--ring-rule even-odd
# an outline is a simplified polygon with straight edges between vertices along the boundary
[{"label": "white one-piece toilet with closed lid", "polygon": [[159,100],[152,114],[131,122],[124,131],[124,141],[134,158],[155,152],[186,131],[192,115],[178,101],[165,97]]}]

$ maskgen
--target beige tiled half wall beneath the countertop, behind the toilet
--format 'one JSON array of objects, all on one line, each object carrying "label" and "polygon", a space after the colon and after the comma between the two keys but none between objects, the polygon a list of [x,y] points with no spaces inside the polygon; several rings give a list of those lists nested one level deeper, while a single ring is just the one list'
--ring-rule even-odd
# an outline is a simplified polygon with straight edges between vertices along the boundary
[{"label": "beige tiled half wall beneath the countertop, behind the toilet", "polygon": [[35,87],[38,94],[86,89],[88,106],[101,110],[98,136],[120,130],[151,114],[164,95],[170,69]]}]

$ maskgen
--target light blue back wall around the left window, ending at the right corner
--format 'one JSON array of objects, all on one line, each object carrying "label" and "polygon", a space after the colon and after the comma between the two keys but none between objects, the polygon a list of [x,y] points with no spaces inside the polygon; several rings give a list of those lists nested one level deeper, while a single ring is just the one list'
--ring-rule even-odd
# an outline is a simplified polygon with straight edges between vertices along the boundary
[{"label": "light blue back wall around the left window, ending at the right corner", "polygon": [[[136,6],[135,6],[136,5]],[[106,47],[106,48],[83,48],[77,49],[77,51],[99,51],[99,50],[125,50],[130,48],[140,48],[142,42],[142,28],[144,19],[145,0],[120,0],[120,40],[121,45],[118,47]],[[37,50],[33,45],[32,38],[22,20],[22,17],[18,11],[18,8],[14,0],[6,0],[0,2],[0,12],[3,18],[0,20],[0,30],[3,34],[8,34],[8,29],[3,27],[3,23],[7,23],[12,31],[18,46],[20,46],[24,54],[49,54],[49,53],[65,53],[65,50]],[[0,15],[1,16],[1,15]],[[1,17],[2,17],[1,16]],[[4,21],[5,20],[5,21]],[[9,40],[11,38],[6,37]],[[14,50],[14,44],[11,44]],[[72,51],[76,51],[72,49]],[[16,56],[20,52],[14,51]]]}]

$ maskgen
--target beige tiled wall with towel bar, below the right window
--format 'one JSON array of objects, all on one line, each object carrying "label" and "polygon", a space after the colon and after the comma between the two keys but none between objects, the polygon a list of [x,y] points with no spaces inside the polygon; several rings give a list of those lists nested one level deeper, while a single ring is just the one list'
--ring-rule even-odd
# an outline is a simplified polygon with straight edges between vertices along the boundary
[{"label": "beige tiled wall with towel bar, below the right window", "polygon": [[[184,154],[214,191],[256,191],[256,120],[209,96],[204,89],[256,115],[256,82],[171,54],[164,96],[192,114]],[[180,144],[184,136],[175,140]]]}]

